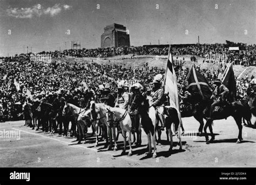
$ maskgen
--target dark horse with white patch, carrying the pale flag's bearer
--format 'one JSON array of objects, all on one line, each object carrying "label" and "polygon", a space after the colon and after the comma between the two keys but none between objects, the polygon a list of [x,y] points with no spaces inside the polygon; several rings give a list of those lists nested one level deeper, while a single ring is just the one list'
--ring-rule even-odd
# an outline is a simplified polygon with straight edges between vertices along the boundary
[{"label": "dark horse with white patch, carrying the pale flag's bearer", "polygon": [[156,124],[158,120],[156,119],[156,111],[153,106],[149,104],[149,100],[151,100],[152,97],[144,97],[142,94],[135,95],[133,102],[131,104],[131,111],[138,108],[138,113],[140,116],[140,121],[142,123],[143,129],[145,133],[147,134],[147,141],[149,145],[149,153],[147,153],[147,156],[152,155],[152,146],[151,146],[151,139],[154,146],[153,151],[153,158],[157,157],[157,147],[156,147]]}]

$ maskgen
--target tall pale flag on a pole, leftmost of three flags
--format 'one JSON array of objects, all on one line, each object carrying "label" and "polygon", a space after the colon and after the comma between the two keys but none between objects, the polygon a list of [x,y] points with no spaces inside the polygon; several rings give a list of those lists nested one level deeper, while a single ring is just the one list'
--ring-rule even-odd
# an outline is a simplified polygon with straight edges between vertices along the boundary
[{"label": "tall pale flag on a pole, leftmost of three flags", "polygon": [[[179,133],[180,127],[182,126],[180,107],[179,107],[179,94],[178,94],[178,84],[176,73],[173,67],[173,59],[171,53],[171,45],[169,46],[169,53],[167,58],[167,65],[165,70],[165,79],[164,79],[164,93],[169,93],[170,97],[170,106],[177,109],[178,117],[179,117]],[[181,134],[178,134],[179,138]],[[181,139],[180,139],[181,142]],[[180,143],[181,144],[181,143]]]}]

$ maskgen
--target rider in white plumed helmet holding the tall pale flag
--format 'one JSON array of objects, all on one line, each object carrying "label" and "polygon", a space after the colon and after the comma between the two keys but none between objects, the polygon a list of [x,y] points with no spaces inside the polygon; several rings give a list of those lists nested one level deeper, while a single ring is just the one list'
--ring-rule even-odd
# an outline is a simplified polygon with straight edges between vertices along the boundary
[{"label": "rider in white plumed helmet holding the tall pale flag", "polygon": [[163,88],[161,88],[161,74],[157,74],[153,80],[153,88],[152,88],[152,102],[151,105],[156,109],[156,117],[160,120],[161,130],[164,130],[165,127],[165,119],[164,119],[164,105],[161,102],[161,99],[164,95]]}]

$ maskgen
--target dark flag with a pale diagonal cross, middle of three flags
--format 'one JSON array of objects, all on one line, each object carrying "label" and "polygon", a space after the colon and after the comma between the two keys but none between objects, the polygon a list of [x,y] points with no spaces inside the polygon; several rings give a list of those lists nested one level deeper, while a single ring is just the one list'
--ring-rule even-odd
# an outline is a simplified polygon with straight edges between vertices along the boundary
[{"label": "dark flag with a pale diagonal cross, middle of three flags", "polygon": [[186,89],[191,93],[199,93],[203,100],[210,99],[212,88],[205,77],[196,70],[194,64],[191,66],[185,81]]}]

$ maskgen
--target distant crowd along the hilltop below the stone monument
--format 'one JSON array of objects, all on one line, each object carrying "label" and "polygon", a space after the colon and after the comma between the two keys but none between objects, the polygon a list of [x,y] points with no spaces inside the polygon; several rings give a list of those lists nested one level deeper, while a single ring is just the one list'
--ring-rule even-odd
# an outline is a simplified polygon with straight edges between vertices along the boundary
[{"label": "distant crowd along the hilltop below the stone monument", "polygon": [[[232,61],[234,64],[250,65],[253,64],[254,60],[254,45],[246,45],[241,47],[239,51],[229,51],[225,44],[200,44],[188,45],[188,46],[172,46],[173,55],[186,55],[190,54],[193,56],[199,56],[205,58],[205,61],[224,61],[229,63]],[[64,57],[113,57],[122,54],[133,54],[135,55],[167,55],[169,52],[169,46],[130,46],[130,47],[107,47],[97,49],[70,49],[63,51],[42,51],[38,54],[50,56],[51,58],[64,58]],[[32,56],[32,53],[28,54],[16,54],[14,57],[2,57],[3,61],[26,61]]]}]

